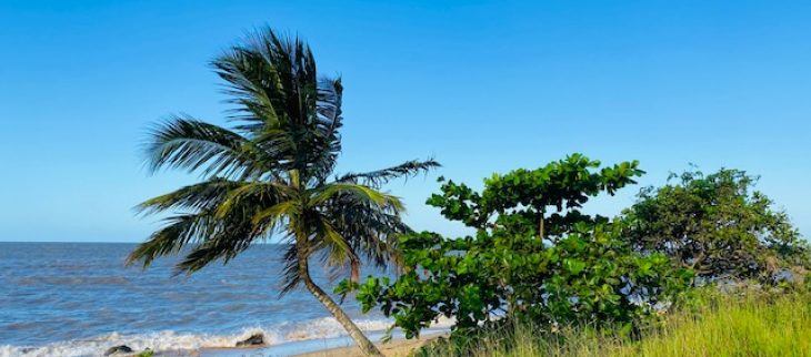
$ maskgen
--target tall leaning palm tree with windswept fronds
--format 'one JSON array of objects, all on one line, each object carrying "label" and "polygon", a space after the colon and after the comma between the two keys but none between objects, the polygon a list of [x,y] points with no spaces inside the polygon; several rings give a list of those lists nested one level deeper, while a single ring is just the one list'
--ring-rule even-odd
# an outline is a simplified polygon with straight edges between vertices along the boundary
[{"label": "tall leaning palm tree with windswept fronds", "polygon": [[281,294],[303,286],[334,315],[367,356],[382,356],[310,274],[311,259],[333,272],[361,262],[386,266],[397,237],[410,232],[400,220],[400,200],[380,191],[389,180],[439,164],[410,161],[398,166],[330,176],[341,151],[340,78],[318,78],[302,40],[266,29],[249,35],[212,62],[234,104],[232,130],[186,115],[158,124],[146,146],[151,172],[202,172],[203,181],[141,203],[144,214],[172,211],[166,225],[128,256],[148,267],[179,254],[178,273],[192,274],[229,259],[253,243],[282,237]]}]

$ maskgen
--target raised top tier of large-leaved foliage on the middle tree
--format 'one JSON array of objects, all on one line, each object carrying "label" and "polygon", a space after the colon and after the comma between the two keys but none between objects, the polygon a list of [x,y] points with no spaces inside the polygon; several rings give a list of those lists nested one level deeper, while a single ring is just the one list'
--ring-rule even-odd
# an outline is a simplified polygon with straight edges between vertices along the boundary
[{"label": "raised top tier of large-leaved foliage on the middle tree", "polygon": [[[638,166],[637,161],[623,162],[592,172],[600,167],[599,161],[572,154],[537,170],[493,174],[484,178],[481,194],[449,181],[442,185],[442,193],[432,195],[427,203],[441,208],[445,218],[477,231],[505,230],[554,241],[575,223],[608,222],[605,217],[584,215],[578,208],[601,192],[613,195],[617,190],[635,184],[633,177],[644,174]],[[442,177],[440,182],[444,182]]]}]

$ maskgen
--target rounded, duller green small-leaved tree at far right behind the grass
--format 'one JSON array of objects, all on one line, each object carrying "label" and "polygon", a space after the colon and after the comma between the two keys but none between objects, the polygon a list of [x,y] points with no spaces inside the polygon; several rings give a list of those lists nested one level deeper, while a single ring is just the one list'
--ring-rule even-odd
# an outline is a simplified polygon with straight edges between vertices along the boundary
[{"label": "rounded, duller green small-leaved tree at far right behind the grass", "polygon": [[664,253],[700,280],[773,279],[782,267],[809,266],[808,245],[785,212],[753,191],[757,177],[688,171],[668,182],[643,188],[624,212],[624,235],[635,249]]}]

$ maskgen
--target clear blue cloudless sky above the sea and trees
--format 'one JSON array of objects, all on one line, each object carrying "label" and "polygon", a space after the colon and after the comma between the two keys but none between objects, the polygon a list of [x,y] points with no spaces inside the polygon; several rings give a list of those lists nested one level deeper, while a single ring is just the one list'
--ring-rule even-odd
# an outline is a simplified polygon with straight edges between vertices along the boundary
[{"label": "clear blue cloudless sky above the sea and trees", "polygon": [[[269,24],[344,80],[339,171],[435,156],[388,188],[417,230],[435,177],[582,152],[640,160],[641,185],[694,163],[761,175],[811,236],[811,1],[0,1],[0,241],[139,242],[132,207],[192,183],[148,175],[146,129],[224,124],[209,60]],[[590,203],[615,214],[639,187]]]}]

